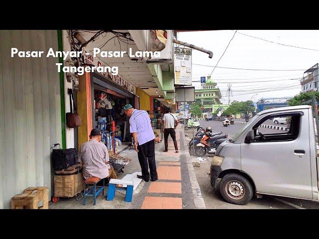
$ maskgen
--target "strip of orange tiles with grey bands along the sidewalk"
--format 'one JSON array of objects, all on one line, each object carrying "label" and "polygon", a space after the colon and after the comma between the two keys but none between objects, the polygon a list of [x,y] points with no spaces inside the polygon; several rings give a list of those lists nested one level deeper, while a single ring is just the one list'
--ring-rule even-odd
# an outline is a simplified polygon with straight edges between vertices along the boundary
[{"label": "strip of orange tiles with grey bands along the sidewalk", "polygon": [[[178,150],[180,127],[179,124],[175,130]],[[168,137],[168,140],[168,152],[163,153],[167,157],[179,158],[180,153],[175,153],[172,139]],[[151,182],[141,209],[182,209],[180,162],[160,161],[157,166],[159,181]],[[152,193],[160,194],[161,197],[150,196]],[[177,197],[167,197],[167,194],[175,194]]]}]

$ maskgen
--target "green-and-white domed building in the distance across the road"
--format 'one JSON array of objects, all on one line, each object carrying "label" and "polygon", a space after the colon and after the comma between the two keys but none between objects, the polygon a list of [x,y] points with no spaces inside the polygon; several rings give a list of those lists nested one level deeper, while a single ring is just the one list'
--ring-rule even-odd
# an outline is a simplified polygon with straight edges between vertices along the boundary
[{"label": "green-and-white domed building in the distance across the road", "polygon": [[207,76],[205,85],[201,89],[195,90],[195,102],[202,105],[204,112],[214,113],[218,109],[224,111],[228,108],[228,105],[220,102],[221,94],[216,85],[217,83],[210,79],[210,76]]}]

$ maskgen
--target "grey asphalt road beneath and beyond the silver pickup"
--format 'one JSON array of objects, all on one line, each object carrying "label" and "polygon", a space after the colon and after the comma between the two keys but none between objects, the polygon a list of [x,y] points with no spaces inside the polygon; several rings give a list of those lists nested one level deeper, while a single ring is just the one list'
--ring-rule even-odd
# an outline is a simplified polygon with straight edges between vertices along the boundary
[{"label": "grey asphalt road beneath and beyond the silver pickup", "polygon": [[[265,123],[270,124],[270,123]],[[244,124],[231,124],[228,127],[224,127],[221,121],[204,121],[200,120],[200,125],[207,127],[211,126],[214,131],[223,131],[227,132],[229,137],[233,137]],[[286,126],[285,124],[279,124]],[[263,131],[262,131],[263,130]],[[270,133],[278,132],[279,130],[262,128],[261,132]],[[191,137],[191,130],[185,131]],[[196,156],[191,156],[192,158]],[[200,167],[195,167],[195,174],[197,181],[201,190],[201,194],[204,198],[205,205],[207,209],[319,209],[319,203],[308,201],[308,200],[299,200],[285,197],[275,197],[264,195],[261,199],[253,199],[250,203],[246,205],[234,205],[229,204],[223,200],[221,196],[213,189],[210,185],[209,172],[210,161],[212,155],[203,157],[206,159],[205,162],[200,163]]]}]

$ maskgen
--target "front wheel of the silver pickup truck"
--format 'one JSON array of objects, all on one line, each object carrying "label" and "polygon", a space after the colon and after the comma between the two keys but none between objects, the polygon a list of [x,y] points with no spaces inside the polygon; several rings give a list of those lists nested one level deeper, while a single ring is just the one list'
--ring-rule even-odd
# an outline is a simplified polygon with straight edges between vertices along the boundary
[{"label": "front wheel of the silver pickup truck", "polygon": [[222,178],[219,191],[225,201],[237,205],[247,204],[254,195],[250,182],[236,173],[227,174]]}]

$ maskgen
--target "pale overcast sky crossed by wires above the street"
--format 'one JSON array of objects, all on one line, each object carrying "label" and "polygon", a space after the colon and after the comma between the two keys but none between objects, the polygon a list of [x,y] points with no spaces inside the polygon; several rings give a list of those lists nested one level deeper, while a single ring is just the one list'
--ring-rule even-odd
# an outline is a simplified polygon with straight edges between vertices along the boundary
[{"label": "pale overcast sky crossed by wires above the street", "polygon": [[[293,45],[318,51],[300,49],[266,42],[245,36]],[[215,66],[230,39],[233,30],[179,32],[177,39],[211,50],[213,58],[200,51],[192,51],[192,80],[199,81],[201,76],[208,76]],[[218,67],[298,70],[298,71],[252,71],[215,68],[211,78],[217,83],[222,93],[222,102],[228,103],[227,84],[231,84],[233,97],[230,101],[247,101],[255,94],[253,101],[268,97],[289,97],[300,93],[298,80],[304,71],[319,63],[319,30],[238,30],[230,42],[227,51],[218,63]],[[209,65],[198,66],[194,64]],[[258,79],[256,79],[258,78]],[[260,79],[263,78],[263,79]],[[249,83],[242,83],[249,82]],[[193,82],[196,89],[200,82]],[[264,92],[258,92],[264,91]],[[226,99],[227,98],[227,99]]]}]

